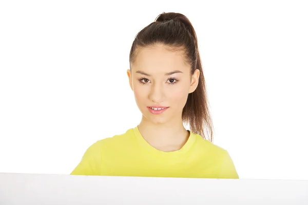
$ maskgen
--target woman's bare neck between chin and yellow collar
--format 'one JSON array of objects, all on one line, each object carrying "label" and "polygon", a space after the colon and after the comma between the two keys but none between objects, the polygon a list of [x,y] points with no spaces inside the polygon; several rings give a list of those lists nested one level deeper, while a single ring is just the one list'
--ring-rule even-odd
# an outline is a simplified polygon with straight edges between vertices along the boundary
[{"label": "woman's bare neck between chin and yellow collar", "polygon": [[138,129],[152,147],[162,151],[181,149],[189,137],[189,132],[184,128],[182,119],[165,124],[154,124],[142,117]]}]

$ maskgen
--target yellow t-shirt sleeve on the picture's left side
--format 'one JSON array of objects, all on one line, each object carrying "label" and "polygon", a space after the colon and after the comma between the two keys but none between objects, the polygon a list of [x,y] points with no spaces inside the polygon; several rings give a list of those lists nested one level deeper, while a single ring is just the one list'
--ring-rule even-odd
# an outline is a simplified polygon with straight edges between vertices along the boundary
[{"label": "yellow t-shirt sleeve on the picture's left side", "polygon": [[102,164],[102,146],[100,141],[91,145],[71,175],[100,175]]}]

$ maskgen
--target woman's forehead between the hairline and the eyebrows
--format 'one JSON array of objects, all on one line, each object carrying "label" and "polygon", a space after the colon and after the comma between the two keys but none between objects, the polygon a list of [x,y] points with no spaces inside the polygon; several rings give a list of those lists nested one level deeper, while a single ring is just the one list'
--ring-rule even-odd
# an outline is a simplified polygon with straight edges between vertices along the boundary
[{"label": "woman's forehead between the hairline and the eyebrows", "polygon": [[147,73],[166,73],[174,70],[189,72],[190,66],[184,58],[181,49],[170,50],[168,47],[157,44],[151,47],[142,47],[136,50],[133,68]]}]

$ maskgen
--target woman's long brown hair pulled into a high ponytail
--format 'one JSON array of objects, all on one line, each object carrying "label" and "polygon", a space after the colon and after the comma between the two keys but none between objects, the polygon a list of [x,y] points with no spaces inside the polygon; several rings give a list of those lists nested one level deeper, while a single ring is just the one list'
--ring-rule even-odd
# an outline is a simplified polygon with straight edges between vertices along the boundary
[{"label": "woman's long brown hair pulled into a high ponytail", "polygon": [[188,94],[183,108],[182,119],[188,124],[193,133],[206,139],[204,129],[207,130],[208,140],[213,141],[213,122],[210,117],[206,85],[200,59],[197,35],[189,19],[181,13],[161,13],[155,22],[149,24],[136,35],[129,53],[129,63],[134,61],[137,49],[164,44],[172,50],[183,50],[185,60],[191,65],[191,75],[196,69],[200,70],[197,89]]}]

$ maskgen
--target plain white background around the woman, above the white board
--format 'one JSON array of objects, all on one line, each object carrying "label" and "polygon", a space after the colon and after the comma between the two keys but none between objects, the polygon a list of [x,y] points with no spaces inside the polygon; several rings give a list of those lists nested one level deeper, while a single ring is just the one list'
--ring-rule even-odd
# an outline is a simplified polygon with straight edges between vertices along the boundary
[{"label": "plain white background around the woman, above the white board", "polygon": [[195,27],[215,128],[242,179],[308,179],[306,1],[2,1],[0,172],[69,174],[139,124],[126,70],[161,12]]}]

